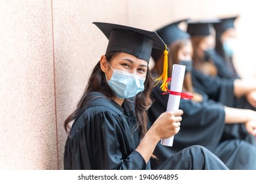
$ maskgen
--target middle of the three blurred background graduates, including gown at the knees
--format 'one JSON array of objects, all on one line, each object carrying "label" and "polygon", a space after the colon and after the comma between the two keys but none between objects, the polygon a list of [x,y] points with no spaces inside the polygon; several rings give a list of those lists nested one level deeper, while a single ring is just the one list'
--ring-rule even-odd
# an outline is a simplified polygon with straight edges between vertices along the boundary
[{"label": "middle of the three blurred background graduates, including gown at the knees", "polygon": [[[194,49],[191,71],[193,86],[205,92],[210,99],[223,103],[227,107],[256,110],[256,96],[250,95],[256,91],[255,79],[221,78],[217,75],[217,67],[214,64],[217,59],[212,54],[215,45],[215,38],[212,34],[213,24],[217,22],[216,20],[190,21],[187,25],[187,32],[191,35]],[[250,98],[246,98],[246,95]],[[255,137],[247,135],[244,125],[226,125],[223,139],[234,138],[256,144]]]}]

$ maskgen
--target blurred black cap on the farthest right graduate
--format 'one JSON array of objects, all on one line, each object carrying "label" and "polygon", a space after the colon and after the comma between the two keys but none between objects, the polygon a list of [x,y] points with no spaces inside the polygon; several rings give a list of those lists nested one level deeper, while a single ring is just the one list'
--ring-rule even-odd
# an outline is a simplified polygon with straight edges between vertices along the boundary
[{"label": "blurred black cap on the farthest right graduate", "polygon": [[220,22],[214,23],[213,27],[215,28],[216,34],[221,35],[224,31],[229,28],[234,28],[234,21],[238,16],[232,16],[229,18],[221,18]]}]

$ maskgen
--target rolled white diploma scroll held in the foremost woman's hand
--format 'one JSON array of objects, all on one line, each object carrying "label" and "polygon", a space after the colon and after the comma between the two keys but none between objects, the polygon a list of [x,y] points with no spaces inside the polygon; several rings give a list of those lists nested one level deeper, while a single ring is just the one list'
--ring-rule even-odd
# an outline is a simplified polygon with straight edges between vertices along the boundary
[{"label": "rolled white diploma scroll held in the foremost woman's hand", "polygon": [[[185,65],[174,64],[172,66],[172,80],[171,80],[171,91],[181,92],[183,86],[183,80],[185,75]],[[180,95],[169,95],[168,104],[166,111],[174,111],[179,109],[179,102],[181,101]],[[174,136],[168,139],[161,139],[161,144],[164,146],[172,146],[174,142]]]}]

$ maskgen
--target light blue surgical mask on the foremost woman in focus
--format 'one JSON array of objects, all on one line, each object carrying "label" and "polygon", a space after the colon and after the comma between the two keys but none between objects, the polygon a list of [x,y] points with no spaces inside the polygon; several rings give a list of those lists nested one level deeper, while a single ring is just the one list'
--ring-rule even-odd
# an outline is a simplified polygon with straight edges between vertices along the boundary
[{"label": "light blue surgical mask on the foremost woman in focus", "polygon": [[[111,65],[109,64],[111,67]],[[112,69],[112,67],[111,67]],[[120,99],[134,97],[137,93],[144,90],[145,78],[117,69],[112,69],[113,75],[107,82],[109,87]],[[106,77],[107,78],[107,77]]]}]

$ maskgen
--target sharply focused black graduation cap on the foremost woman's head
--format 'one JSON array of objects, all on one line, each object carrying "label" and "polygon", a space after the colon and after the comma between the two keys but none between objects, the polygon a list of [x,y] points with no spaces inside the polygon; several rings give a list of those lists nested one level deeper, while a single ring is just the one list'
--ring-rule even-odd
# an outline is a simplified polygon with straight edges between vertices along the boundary
[{"label": "sharply focused black graduation cap on the foremost woman's head", "polygon": [[126,25],[92,22],[109,39],[106,53],[125,52],[149,62],[151,52],[166,50],[166,44],[155,31],[146,31]]}]

